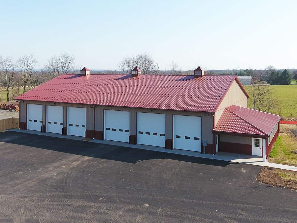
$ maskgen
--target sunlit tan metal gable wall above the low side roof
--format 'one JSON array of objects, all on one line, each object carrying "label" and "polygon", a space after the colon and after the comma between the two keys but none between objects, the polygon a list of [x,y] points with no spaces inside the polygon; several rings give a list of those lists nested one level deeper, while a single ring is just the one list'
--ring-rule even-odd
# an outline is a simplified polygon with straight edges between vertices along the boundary
[{"label": "sunlit tan metal gable wall above the low side roof", "polygon": [[222,100],[221,104],[219,105],[217,111],[214,115],[214,123],[217,125],[225,107],[230,105],[237,105],[241,107],[247,107],[247,96],[244,94],[238,83],[234,80],[231,84],[229,90],[227,91],[224,99]]}]

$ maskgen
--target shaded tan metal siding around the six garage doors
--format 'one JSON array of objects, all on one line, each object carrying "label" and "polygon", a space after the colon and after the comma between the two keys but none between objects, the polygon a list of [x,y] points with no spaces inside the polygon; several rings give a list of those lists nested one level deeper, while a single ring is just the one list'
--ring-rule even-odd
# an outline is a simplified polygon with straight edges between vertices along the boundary
[{"label": "shaded tan metal siding around the six garage doors", "polygon": [[[53,105],[52,102],[37,102],[37,101],[25,101],[20,102],[21,105],[21,122],[26,122],[26,104],[38,104],[43,105],[43,124],[45,124],[45,105]],[[86,129],[93,130],[94,114],[93,108],[90,105],[68,104],[68,103],[56,103],[57,106],[64,106],[64,127],[67,126],[67,107],[85,107],[86,108]],[[149,112],[149,109],[140,108],[127,108],[127,107],[111,107],[111,106],[96,106],[95,107],[95,130],[103,131],[104,122],[104,109],[107,110],[121,110],[130,112],[130,134],[136,135],[136,112]],[[213,143],[212,129],[214,128],[213,116],[209,114],[205,116],[205,113],[198,112],[185,112],[185,111],[170,111],[170,110],[157,110],[153,109],[152,113],[159,113],[166,115],[166,138],[172,139],[173,134],[173,115],[187,115],[187,116],[200,116],[201,117],[201,137],[202,140],[207,140],[208,143]]]}]

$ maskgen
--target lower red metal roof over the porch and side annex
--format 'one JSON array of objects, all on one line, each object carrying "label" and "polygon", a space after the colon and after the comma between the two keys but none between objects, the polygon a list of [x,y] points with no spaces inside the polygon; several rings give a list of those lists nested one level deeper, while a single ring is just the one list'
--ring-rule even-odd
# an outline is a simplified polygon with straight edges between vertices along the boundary
[{"label": "lower red metal roof over the porch and side annex", "polygon": [[231,105],[223,111],[215,132],[269,136],[281,116]]}]

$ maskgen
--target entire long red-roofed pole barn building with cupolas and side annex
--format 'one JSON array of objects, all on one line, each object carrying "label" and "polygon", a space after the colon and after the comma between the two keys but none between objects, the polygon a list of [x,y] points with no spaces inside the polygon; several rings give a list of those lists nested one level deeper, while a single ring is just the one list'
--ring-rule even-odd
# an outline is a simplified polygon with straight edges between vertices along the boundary
[{"label": "entire long red-roofed pole barn building with cupolas and side annex", "polygon": [[247,108],[236,76],[63,74],[15,98],[20,129],[182,149],[263,156],[280,116]]}]

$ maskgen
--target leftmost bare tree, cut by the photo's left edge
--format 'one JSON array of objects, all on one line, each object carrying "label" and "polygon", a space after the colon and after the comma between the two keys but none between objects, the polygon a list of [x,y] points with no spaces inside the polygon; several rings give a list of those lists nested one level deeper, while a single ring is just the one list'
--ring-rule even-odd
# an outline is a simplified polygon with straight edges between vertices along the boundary
[{"label": "leftmost bare tree, cut by the photo's left edge", "polygon": [[1,82],[7,91],[7,101],[9,101],[10,99],[9,88],[13,86],[14,77],[15,77],[12,57],[7,56],[0,61],[0,75],[1,75]]}]

